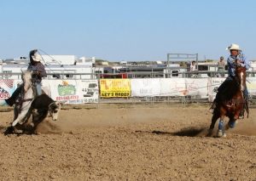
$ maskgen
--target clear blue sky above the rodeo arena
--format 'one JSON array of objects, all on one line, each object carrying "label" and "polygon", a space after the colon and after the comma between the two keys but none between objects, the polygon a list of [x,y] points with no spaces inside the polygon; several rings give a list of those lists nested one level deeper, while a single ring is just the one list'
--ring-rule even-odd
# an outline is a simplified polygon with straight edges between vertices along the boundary
[{"label": "clear blue sky above the rodeo arena", "polygon": [[0,59],[47,54],[111,61],[218,59],[237,43],[256,59],[254,0],[0,0]]}]

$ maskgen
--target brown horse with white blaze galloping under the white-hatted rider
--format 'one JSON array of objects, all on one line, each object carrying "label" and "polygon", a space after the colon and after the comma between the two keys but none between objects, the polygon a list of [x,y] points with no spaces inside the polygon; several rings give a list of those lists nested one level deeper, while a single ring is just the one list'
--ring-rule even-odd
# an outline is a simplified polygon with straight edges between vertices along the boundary
[{"label": "brown horse with white blaze galloping under the white-hatted rider", "polygon": [[[244,99],[243,91],[246,88],[246,68],[236,65],[236,76],[226,83],[224,90],[219,94],[216,108],[213,110],[212,124],[208,135],[212,135],[212,130],[218,118],[218,137],[225,137],[225,130],[233,128],[241,111],[247,110],[249,115],[247,100]],[[224,117],[228,116],[230,121],[224,127]]]}]

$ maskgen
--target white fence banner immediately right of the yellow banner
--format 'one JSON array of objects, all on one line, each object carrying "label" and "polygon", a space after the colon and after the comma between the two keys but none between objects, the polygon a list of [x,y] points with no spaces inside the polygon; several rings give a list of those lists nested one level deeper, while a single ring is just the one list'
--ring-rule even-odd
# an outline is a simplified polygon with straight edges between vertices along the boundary
[{"label": "white fence banner immediately right of the yellow banner", "polygon": [[160,96],[160,78],[131,79],[131,96]]}]

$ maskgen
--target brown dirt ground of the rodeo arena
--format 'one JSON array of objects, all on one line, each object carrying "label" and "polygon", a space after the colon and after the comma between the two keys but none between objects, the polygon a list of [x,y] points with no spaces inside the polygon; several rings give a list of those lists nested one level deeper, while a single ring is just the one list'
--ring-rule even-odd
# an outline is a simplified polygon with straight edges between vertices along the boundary
[{"label": "brown dirt ground of the rodeo arena", "polygon": [[[4,129],[13,114],[0,111]],[[38,135],[0,134],[0,179],[256,180],[256,110],[225,139],[205,137],[211,116],[199,105],[61,110]]]}]

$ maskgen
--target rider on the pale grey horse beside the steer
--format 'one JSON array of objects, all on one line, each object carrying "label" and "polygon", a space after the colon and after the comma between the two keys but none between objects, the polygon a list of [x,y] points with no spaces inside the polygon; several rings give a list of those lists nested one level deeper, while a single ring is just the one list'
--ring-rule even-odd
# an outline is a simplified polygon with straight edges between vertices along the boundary
[{"label": "rider on the pale grey horse beside the steer", "polygon": [[[42,94],[42,89],[41,89],[42,77],[47,75],[44,69],[44,65],[40,62],[41,55],[38,54],[37,49],[33,49],[32,51],[30,51],[29,59],[30,59],[30,64],[27,67],[27,71],[32,71],[32,83],[34,84],[37,90],[37,95],[41,95]],[[9,99],[5,99],[5,103],[9,106],[14,105],[15,100],[18,98],[21,92],[21,89],[22,89],[22,85],[16,88],[15,92],[12,94],[12,96]],[[0,105],[5,105],[5,103],[1,103]]]}]

